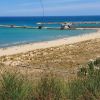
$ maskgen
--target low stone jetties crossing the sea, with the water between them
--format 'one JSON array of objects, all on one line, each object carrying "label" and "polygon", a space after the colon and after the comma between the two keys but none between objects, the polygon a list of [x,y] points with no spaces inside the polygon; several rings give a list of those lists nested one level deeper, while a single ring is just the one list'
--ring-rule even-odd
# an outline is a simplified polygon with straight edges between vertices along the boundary
[{"label": "low stone jetties crossing the sea, with the water between them", "polygon": [[[93,25],[91,26],[90,24],[91,25],[93,24]],[[60,30],[100,28],[100,22],[47,22],[47,23],[39,22],[39,23],[36,23],[36,25],[37,25],[36,27],[33,27],[33,26],[25,26],[25,25],[17,26],[17,25],[11,24],[11,25],[0,25],[0,27],[23,28],[23,29],[60,29]],[[46,27],[46,25],[59,25],[59,27]]]}]

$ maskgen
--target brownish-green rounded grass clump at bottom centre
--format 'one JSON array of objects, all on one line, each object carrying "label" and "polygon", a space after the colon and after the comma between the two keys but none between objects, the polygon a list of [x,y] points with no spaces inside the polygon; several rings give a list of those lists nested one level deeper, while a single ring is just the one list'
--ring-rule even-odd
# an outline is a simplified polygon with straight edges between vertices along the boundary
[{"label": "brownish-green rounded grass clump at bottom centre", "polygon": [[64,81],[52,73],[46,73],[36,87],[38,100],[64,99]]}]

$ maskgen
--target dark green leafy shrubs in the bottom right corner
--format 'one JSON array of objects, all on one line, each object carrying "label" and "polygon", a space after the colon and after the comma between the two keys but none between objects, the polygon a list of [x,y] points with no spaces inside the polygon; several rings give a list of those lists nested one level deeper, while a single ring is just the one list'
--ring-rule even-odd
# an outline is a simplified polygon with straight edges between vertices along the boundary
[{"label": "dark green leafy shrubs in the bottom right corner", "polygon": [[97,60],[80,68],[77,79],[69,83],[71,100],[100,100],[100,62],[96,63]]}]

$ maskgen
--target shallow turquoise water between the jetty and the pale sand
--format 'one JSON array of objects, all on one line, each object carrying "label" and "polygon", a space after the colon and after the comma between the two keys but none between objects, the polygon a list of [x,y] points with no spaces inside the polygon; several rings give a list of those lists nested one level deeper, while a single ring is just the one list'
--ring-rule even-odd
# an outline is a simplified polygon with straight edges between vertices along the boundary
[{"label": "shallow turquoise water between the jetty and the pale sand", "polygon": [[0,47],[41,42],[95,32],[96,30],[39,30],[0,28]]}]

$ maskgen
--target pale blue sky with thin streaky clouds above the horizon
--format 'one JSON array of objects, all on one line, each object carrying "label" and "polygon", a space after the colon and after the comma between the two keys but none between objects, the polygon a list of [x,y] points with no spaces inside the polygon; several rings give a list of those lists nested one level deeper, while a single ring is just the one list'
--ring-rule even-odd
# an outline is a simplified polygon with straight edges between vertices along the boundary
[{"label": "pale blue sky with thin streaky clouds above the horizon", "polygon": [[[42,16],[41,0],[0,0],[0,16]],[[42,0],[45,16],[100,15],[100,0]]]}]

